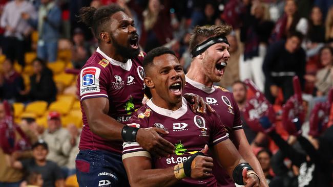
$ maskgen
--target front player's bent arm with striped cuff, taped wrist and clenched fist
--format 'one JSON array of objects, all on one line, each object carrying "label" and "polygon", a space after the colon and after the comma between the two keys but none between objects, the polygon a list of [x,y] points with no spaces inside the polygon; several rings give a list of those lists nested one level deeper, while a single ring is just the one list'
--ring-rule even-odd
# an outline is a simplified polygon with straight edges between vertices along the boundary
[{"label": "front player's bent arm with striped cuff, taped wrist and clenched fist", "polygon": [[[131,186],[172,186],[186,176],[193,179],[212,176],[213,158],[203,156],[207,153],[207,146],[183,163],[164,169],[152,169],[149,152],[138,146],[137,143],[124,143],[123,146],[122,161]],[[131,147],[137,147],[140,150],[127,151]]]}]

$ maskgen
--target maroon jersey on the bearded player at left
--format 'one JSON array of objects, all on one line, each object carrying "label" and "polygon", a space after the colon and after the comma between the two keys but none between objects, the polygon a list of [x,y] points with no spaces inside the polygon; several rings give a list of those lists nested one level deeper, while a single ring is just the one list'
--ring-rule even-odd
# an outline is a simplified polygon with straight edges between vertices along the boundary
[{"label": "maroon jersey on the bearded player at left", "polygon": [[132,112],[142,106],[143,52],[126,63],[118,62],[97,48],[81,68],[77,79],[84,126],[80,137],[80,150],[107,150],[121,154],[122,142],[110,142],[91,132],[82,101],[89,98],[109,99],[108,115],[118,122],[126,122]]}]

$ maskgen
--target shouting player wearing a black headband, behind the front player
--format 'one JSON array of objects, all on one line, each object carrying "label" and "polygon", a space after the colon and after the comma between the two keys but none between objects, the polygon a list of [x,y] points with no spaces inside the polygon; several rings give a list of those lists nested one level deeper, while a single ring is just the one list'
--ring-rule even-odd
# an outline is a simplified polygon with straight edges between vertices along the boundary
[{"label": "shouting player wearing a black headband, behind the front player", "polygon": [[[185,92],[195,93],[209,103],[221,117],[222,124],[230,133],[230,139],[238,149],[240,155],[253,166],[261,179],[262,186],[268,186],[260,167],[260,163],[249,146],[244,131],[237,103],[233,94],[228,90],[214,86],[213,83],[222,79],[225,67],[230,58],[230,45],[226,36],[232,28],[227,25],[196,27],[190,38],[190,52],[192,62],[186,74]],[[234,181],[227,175],[227,171],[215,164],[213,173],[223,186],[235,186]]]}]

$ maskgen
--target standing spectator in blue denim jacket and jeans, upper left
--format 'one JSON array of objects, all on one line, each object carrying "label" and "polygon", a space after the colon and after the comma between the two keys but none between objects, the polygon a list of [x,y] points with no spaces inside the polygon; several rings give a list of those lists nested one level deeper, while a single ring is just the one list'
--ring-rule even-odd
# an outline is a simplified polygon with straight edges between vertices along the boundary
[{"label": "standing spectator in blue denim jacket and jeans, upper left", "polygon": [[57,60],[61,10],[53,0],[41,0],[38,19],[29,14],[22,17],[38,31],[37,57],[48,62]]}]

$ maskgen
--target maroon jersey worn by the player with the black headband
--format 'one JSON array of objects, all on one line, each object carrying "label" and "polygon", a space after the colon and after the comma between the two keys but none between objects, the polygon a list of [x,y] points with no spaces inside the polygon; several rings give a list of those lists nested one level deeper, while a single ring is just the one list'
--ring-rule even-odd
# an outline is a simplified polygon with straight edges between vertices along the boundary
[{"label": "maroon jersey worn by the player with the black headband", "polygon": [[[229,133],[243,128],[239,108],[233,93],[219,86],[207,87],[188,77],[186,77],[184,91],[185,93],[194,93],[201,96],[209,103],[220,116],[222,124]],[[233,141],[233,133],[230,133],[229,138]],[[217,160],[214,160],[213,174],[220,185],[235,186],[235,182],[229,177],[227,171],[220,167]]]}]

